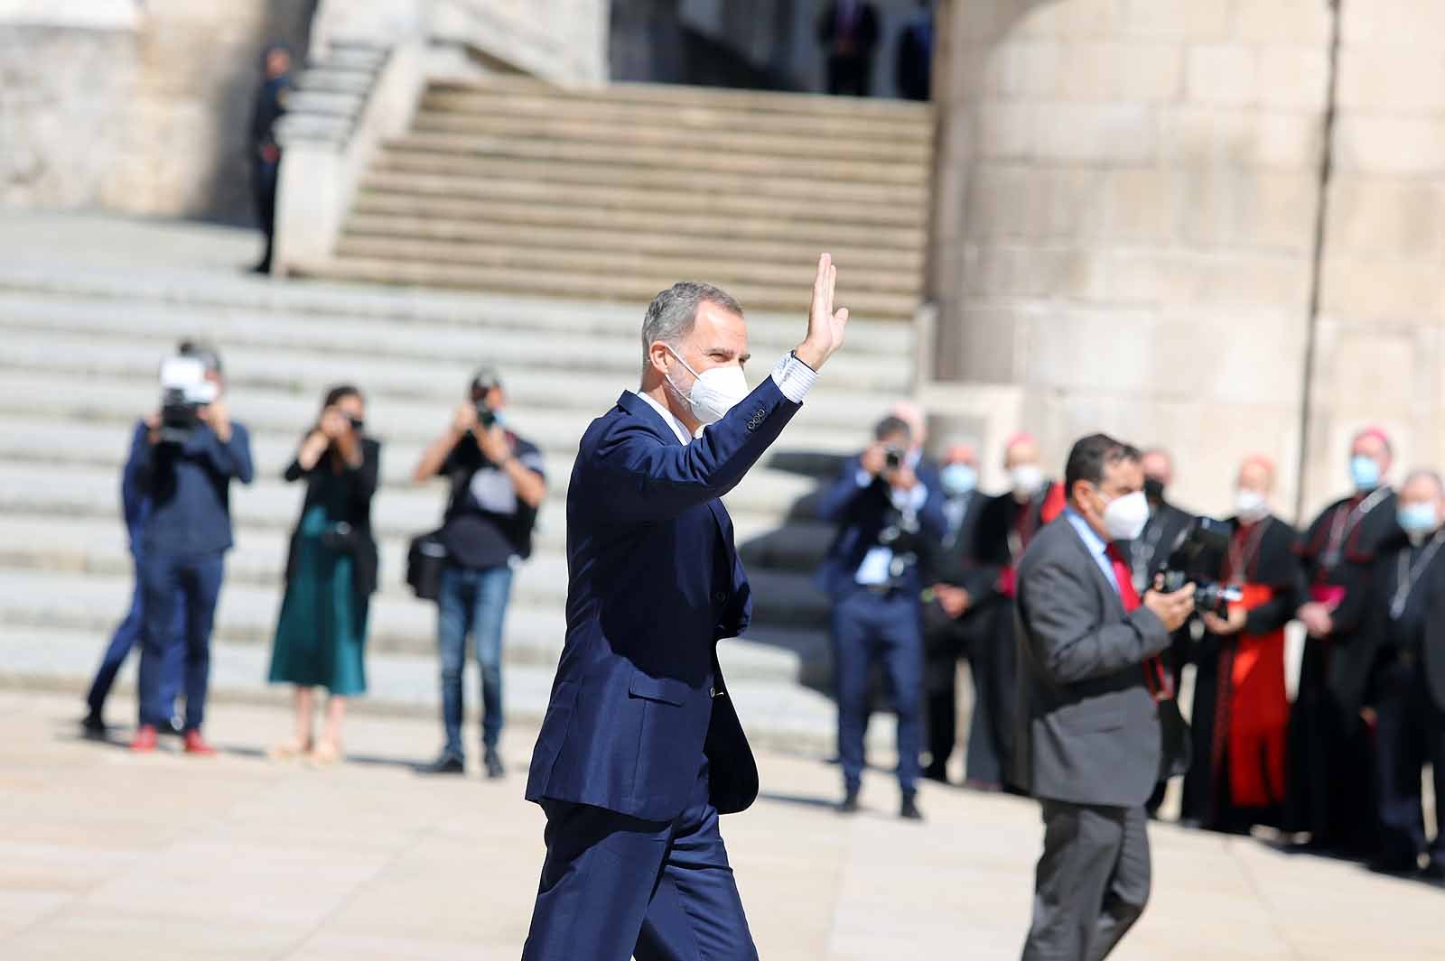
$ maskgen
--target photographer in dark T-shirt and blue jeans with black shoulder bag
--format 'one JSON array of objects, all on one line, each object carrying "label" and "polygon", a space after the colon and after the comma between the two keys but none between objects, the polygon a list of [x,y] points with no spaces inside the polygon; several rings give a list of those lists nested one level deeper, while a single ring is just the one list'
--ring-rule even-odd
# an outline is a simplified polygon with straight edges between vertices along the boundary
[{"label": "photographer in dark T-shirt and blue jeans with black shoulder bag", "polygon": [[447,550],[438,596],[442,726],[447,743],[428,773],[464,773],[461,739],[467,636],[481,668],[481,743],[488,778],[506,773],[501,737],[501,638],[513,571],[532,554],[532,528],[546,498],[542,452],[504,427],[501,378],[483,367],[452,423],[422,453],[413,479],[442,475],[451,496],[438,538]]}]

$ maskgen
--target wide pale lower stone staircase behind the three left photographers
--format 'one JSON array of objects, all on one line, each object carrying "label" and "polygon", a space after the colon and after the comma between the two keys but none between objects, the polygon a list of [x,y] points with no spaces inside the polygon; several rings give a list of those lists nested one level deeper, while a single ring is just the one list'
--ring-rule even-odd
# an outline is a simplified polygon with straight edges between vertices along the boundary
[{"label": "wide pale lower stone staircase behind the three left photographers", "polygon": [[[360,212],[357,216],[363,216]],[[853,303],[844,255],[841,300]],[[338,261],[345,263],[345,261]],[[418,270],[436,261],[416,261]],[[805,302],[808,264],[779,277]],[[744,304],[747,300],[744,299]],[[78,690],[130,596],[118,470],[136,417],[155,407],[160,356],[184,336],[223,351],[231,408],[253,436],[256,483],[236,488],[237,547],[217,620],[218,694],[275,698],[264,652],[279,607],[285,538],[301,488],[280,472],[328,384],[368,395],[383,439],[374,518],[381,590],[373,600],[373,708],[435,708],[435,609],[402,586],[410,535],[435,527],[441,485],[415,486],[422,447],[447,424],[470,371],[500,365],[517,430],[548,457],[551,495],[538,551],[516,583],[506,651],[509,711],[539,719],[564,636],[564,502],[587,423],[634,385],[642,304],[504,294],[280,283],[189,271],[0,266],[0,681]],[[802,312],[750,315],[762,377],[802,332]],[[909,325],[857,319],[850,348],[769,460],[728,496],[753,577],[756,626],[724,646],[753,733],[777,747],[831,750],[825,603],[811,573],[829,531],[809,498],[837,456],[903,395]],[[812,685],[812,687],[809,687]],[[118,717],[116,720],[120,720]],[[884,726],[876,726],[887,737]]]}]

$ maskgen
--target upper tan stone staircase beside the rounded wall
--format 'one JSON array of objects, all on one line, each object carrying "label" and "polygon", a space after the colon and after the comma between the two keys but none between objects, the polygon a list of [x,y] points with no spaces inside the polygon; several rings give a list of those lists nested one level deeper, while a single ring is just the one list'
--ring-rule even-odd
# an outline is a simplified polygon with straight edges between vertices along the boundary
[{"label": "upper tan stone staircase beside the rounded wall", "polygon": [[[434,84],[367,172],[316,276],[646,302],[679,277],[798,310],[831,250],[855,313],[923,280],[928,105],[527,79]],[[805,291],[803,291],[805,293]]]}]

